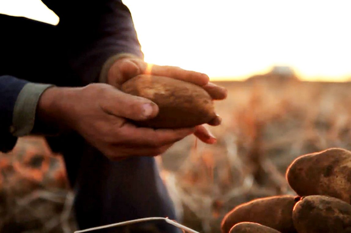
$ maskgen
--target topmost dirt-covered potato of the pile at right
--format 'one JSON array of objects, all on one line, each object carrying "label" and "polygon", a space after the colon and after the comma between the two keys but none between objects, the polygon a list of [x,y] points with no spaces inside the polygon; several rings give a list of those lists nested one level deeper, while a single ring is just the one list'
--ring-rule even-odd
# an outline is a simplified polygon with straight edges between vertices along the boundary
[{"label": "topmost dirt-covered potato of the pile at right", "polygon": [[299,196],[325,195],[351,203],[351,152],[333,148],[300,156],[286,179]]}]

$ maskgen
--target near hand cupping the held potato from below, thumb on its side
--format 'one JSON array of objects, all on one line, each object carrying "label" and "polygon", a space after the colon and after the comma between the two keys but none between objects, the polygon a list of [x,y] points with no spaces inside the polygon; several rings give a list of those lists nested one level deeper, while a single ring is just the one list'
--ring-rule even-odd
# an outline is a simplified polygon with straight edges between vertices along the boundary
[{"label": "near hand cupping the held potato from below, thumb on its side", "polygon": [[137,128],[126,119],[146,120],[158,113],[152,101],[123,93],[108,84],[52,87],[39,99],[40,121],[74,129],[111,160],[156,156],[195,132],[194,128]]}]

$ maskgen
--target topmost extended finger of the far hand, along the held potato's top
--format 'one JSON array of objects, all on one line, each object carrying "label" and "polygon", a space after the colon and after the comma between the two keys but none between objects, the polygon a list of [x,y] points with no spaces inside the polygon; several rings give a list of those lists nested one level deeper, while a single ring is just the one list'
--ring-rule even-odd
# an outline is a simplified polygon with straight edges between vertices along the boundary
[{"label": "topmost extended finger of the far hand, along the held potato's top", "polygon": [[199,86],[204,86],[210,80],[204,73],[199,73],[190,70],[183,70],[176,66],[160,66],[153,65],[151,68],[151,75],[166,76],[174,79],[183,80],[194,83]]}]

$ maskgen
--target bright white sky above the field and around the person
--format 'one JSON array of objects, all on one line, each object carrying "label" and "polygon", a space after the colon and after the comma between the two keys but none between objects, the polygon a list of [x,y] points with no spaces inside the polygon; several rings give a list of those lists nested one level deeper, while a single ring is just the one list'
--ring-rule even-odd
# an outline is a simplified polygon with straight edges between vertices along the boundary
[{"label": "bright white sky above the field and around the person", "polygon": [[[243,79],[273,65],[304,79],[351,79],[349,0],[124,0],[145,60]],[[1,0],[0,13],[57,24],[40,0]]]}]

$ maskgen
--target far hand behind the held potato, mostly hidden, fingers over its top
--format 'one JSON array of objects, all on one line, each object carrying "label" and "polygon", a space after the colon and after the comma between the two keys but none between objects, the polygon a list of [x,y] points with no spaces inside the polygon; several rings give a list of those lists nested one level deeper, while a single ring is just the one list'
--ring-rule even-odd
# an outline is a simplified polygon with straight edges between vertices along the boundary
[{"label": "far hand behind the held potato, mostly hidden, fingers over its top", "polygon": [[[224,87],[210,83],[208,76],[203,73],[183,70],[175,66],[150,65],[137,57],[122,57],[115,61],[107,73],[107,83],[119,88],[128,79],[140,74],[166,76],[194,83],[203,87],[214,100],[227,97],[227,90]],[[208,124],[217,126],[220,123],[221,118],[217,115]],[[204,126],[197,126],[194,135],[209,144],[216,142],[216,138]]]}]

